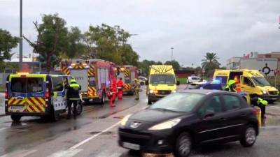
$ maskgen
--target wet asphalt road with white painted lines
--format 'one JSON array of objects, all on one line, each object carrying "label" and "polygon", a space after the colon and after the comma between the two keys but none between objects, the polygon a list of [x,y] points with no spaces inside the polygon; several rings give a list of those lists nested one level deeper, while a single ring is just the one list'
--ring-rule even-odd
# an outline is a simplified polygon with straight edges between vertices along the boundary
[{"label": "wet asphalt road with white painted lines", "polygon": [[[66,120],[64,114],[56,123],[24,117],[21,123],[15,124],[10,117],[0,117],[0,157],[160,156],[129,154],[117,144],[116,130],[120,119],[147,106],[144,91],[141,92],[141,100],[125,96],[123,100],[116,101],[115,108],[109,107],[108,103],[104,106],[85,105],[83,114],[76,120]],[[196,148],[191,156],[280,156],[279,143],[280,103],[276,103],[267,107],[267,119],[253,147],[244,148],[239,142],[232,142]]]}]

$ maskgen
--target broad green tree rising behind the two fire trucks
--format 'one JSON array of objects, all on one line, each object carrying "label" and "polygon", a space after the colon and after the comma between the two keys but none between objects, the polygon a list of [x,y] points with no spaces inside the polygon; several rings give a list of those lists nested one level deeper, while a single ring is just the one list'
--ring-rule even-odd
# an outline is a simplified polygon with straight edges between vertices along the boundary
[{"label": "broad green tree rising behind the two fire trucks", "polygon": [[83,38],[87,47],[85,56],[112,61],[119,65],[137,66],[139,55],[127,43],[130,36],[130,33],[119,26],[110,27],[106,24],[90,26]]}]

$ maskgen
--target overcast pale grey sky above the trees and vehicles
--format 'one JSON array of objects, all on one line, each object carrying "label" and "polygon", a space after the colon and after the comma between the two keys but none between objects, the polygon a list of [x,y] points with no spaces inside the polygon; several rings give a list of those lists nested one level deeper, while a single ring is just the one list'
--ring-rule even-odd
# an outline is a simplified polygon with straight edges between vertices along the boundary
[{"label": "overcast pale grey sky above the trees and vehicles", "polygon": [[[19,36],[19,0],[0,0],[0,28]],[[32,21],[59,13],[67,26],[120,25],[143,59],[200,65],[206,52],[226,59],[248,52],[279,52],[279,0],[23,0],[23,33],[36,38]],[[18,52],[18,48],[14,50]],[[24,52],[32,49],[24,42]]]}]

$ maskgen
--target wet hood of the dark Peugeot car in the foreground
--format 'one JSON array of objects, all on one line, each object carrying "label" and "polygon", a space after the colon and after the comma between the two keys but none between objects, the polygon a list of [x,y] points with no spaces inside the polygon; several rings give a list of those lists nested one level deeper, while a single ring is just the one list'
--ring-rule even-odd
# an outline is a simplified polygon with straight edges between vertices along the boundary
[{"label": "wet hood of the dark Peugeot car in the foreground", "polygon": [[169,119],[174,119],[176,117],[181,117],[183,113],[181,112],[162,112],[159,110],[142,110],[135,114],[132,114],[130,120],[132,121],[146,121],[152,123],[160,123],[163,121],[168,121]]}]

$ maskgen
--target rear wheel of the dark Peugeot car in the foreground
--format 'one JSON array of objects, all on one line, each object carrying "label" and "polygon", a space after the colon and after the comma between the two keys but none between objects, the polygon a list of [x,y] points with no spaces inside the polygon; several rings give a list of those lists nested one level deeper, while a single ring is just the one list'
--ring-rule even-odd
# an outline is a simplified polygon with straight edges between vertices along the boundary
[{"label": "rear wheel of the dark Peugeot car in the foreground", "polygon": [[244,135],[240,140],[240,144],[243,147],[252,147],[257,140],[257,131],[252,125],[248,125],[244,130]]}]

